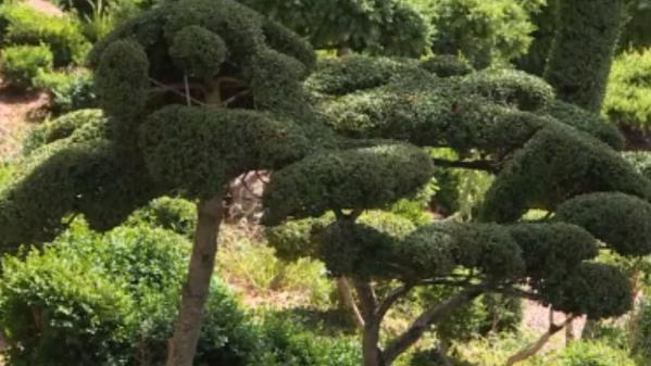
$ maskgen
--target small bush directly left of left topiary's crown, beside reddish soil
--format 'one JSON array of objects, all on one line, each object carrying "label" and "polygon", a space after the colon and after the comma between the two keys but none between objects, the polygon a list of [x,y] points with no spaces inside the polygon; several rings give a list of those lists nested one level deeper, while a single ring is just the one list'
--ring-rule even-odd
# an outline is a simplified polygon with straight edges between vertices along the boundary
[{"label": "small bush directly left of left topiary's crown, beside reddish soil", "polygon": [[52,96],[50,108],[57,114],[98,106],[92,74],[87,70],[40,72],[34,85]]}]

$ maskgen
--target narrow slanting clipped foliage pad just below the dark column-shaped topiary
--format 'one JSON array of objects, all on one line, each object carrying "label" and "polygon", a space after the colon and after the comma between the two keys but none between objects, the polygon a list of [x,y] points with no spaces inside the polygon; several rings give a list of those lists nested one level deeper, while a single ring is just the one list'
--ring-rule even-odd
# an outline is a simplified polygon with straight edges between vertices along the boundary
[{"label": "narrow slanting clipped foliage pad just below the dark column-shaped topiary", "polygon": [[588,132],[615,150],[624,149],[625,138],[617,127],[597,113],[583,110],[560,100],[552,102],[544,112],[566,125]]}]

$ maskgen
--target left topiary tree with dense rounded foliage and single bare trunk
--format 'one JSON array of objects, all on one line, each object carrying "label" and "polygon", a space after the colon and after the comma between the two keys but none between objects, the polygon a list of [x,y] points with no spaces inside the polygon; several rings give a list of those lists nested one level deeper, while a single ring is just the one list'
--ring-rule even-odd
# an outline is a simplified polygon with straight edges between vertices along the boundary
[{"label": "left topiary tree with dense rounded foliage and single bare trunk", "polygon": [[333,140],[300,85],[313,64],[306,42],[230,0],[163,3],[136,16],[90,55],[105,118],[46,129],[46,144],[18,163],[21,174],[0,193],[2,249],[49,241],[71,215],[107,230],[154,198],[197,200],[167,358],[191,365],[225,187]]}]

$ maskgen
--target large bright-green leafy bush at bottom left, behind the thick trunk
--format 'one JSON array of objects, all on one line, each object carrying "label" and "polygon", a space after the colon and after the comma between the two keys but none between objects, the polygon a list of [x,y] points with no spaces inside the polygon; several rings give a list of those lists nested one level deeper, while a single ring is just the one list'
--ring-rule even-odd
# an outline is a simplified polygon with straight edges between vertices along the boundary
[{"label": "large bright-green leafy bush at bottom left, behind the thick trunk", "polygon": [[[189,244],[142,226],[105,235],[75,223],[42,251],[7,256],[0,326],[8,365],[157,365],[165,357]],[[220,280],[212,283],[198,364],[247,365],[255,333]]]}]

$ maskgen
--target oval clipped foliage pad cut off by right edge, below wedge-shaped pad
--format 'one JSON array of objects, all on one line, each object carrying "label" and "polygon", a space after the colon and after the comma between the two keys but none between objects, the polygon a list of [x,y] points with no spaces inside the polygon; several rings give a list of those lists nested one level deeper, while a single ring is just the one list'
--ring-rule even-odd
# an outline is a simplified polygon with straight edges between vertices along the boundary
[{"label": "oval clipped foliage pad cut off by right edge, below wedge-shaped pad", "polygon": [[563,202],[555,218],[586,228],[623,255],[651,253],[651,204],[624,193],[591,193]]}]

